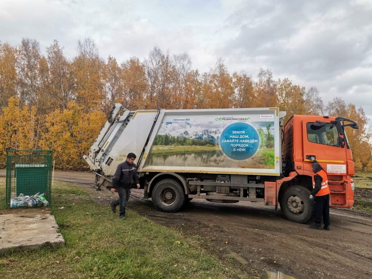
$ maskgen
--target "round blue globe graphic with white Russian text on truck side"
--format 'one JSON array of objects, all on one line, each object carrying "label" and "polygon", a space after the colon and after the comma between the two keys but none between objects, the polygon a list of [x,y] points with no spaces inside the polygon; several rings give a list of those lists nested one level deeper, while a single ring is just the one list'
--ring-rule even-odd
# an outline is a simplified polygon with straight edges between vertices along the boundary
[{"label": "round blue globe graphic with white Russian text on truck side", "polygon": [[251,125],[237,122],[228,125],[219,139],[222,151],[231,159],[245,160],[256,153],[260,137]]}]

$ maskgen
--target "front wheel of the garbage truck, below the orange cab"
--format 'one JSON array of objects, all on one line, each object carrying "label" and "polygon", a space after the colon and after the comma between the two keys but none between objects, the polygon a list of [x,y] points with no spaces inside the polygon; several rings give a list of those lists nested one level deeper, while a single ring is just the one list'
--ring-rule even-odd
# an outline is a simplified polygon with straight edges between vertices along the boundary
[{"label": "front wheel of the garbage truck, below the orange cab", "polygon": [[313,203],[309,200],[310,191],[303,186],[288,187],[280,202],[284,216],[293,222],[305,223],[309,221],[314,210]]}]

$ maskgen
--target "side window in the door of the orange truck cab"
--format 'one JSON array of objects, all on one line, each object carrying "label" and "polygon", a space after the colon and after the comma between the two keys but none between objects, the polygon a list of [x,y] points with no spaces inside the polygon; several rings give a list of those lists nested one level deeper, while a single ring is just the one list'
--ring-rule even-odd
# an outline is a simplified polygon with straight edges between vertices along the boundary
[{"label": "side window in the door of the orange truck cab", "polygon": [[326,123],[324,126],[317,126],[314,124],[316,123],[310,122],[306,124],[308,141],[335,147],[340,146],[337,140],[339,132],[335,124]]}]

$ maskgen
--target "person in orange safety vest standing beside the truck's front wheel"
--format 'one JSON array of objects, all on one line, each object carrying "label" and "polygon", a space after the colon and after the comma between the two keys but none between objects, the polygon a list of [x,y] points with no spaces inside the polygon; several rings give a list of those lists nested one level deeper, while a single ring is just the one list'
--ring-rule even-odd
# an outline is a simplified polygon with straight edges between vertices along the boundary
[{"label": "person in orange safety vest standing beside the truck's front wheel", "polygon": [[315,224],[309,226],[311,229],[321,230],[321,221],[323,215],[324,229],[329,231],[329,187],[327,173],[322,169],[317,161],[313,161],[312,171],[312,191],[310,200],[314,200],[314,221]]}]

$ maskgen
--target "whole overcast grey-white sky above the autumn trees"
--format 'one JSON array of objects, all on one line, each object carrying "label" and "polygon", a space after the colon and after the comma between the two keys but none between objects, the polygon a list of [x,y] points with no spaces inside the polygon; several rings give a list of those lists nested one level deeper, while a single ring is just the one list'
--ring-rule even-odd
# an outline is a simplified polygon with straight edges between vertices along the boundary
[{"label": "whole overcast grey-white sky above the autumn trees", "polygon": [[45,53],[57,39],[73,58],[86,37],[118,62],[157,45],[187,52],[200,72],[218,58],[255,80],[270,68],[372,119],[372,0],[0,0],[1,42],[36,39]]}]

